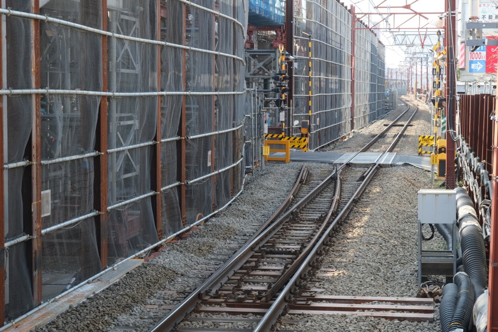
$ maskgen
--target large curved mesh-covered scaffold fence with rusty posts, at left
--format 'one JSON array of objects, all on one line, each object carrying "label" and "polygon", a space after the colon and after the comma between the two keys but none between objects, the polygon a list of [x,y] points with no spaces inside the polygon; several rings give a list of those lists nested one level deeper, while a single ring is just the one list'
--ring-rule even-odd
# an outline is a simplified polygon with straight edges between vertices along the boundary
[{"label": "large curved mesh-covered scaffold fence with rusty posts, at left", "polygon": [[0,8],[8,320],[225,206],[246,165],[247,1],[34,3]]}]

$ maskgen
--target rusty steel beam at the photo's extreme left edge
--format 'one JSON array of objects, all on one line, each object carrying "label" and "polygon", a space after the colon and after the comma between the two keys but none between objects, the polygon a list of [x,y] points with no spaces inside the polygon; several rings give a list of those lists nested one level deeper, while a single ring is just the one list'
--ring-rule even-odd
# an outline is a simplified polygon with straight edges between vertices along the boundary
[{"label": "rusty steel beam at the photo's extreme left edge", "polygon": [[[0,19],[0,54],[3,57],[3,29],[2,29],[2,19]],[[3,89],[3,65],[0,64],[0,89]],[[3,150],[3,96],[0,96],[0,160],[4,161],[4,150]],[[2,214],[2,219],[5,220],[5,181],[4,181],[4,169],[0,167],[0,212]],[[5,222],[0,222],[0,327],[3,326],[5,322]]]}]

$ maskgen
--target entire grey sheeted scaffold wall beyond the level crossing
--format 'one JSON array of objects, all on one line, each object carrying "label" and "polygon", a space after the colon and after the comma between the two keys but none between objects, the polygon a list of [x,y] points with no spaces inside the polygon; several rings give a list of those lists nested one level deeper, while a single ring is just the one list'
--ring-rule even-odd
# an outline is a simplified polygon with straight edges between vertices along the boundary
[{"label": "entire grey sheeted scaffold wall beyond the level crossing", "polygon": [[[341,3],[333,0],[296,0],[295,17],[293,122],[310,120],[309,148],[316,149],[352,129],[353,18]],[[368,29],[356,29],[355,34],[354,125],[359,128],[383,115],[385,65],[384,49],[376,36]],[[292,134],[300,135],[299,124]]]}]

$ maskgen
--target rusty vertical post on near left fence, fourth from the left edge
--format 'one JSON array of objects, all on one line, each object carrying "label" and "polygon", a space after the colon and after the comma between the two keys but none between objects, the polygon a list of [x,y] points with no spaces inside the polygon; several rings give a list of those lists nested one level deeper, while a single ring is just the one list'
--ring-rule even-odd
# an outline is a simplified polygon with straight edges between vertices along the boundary
[{"label": "rusty vertical post on near left fence, fourth from the left edge", "polygon": [[[155,23],[157,40],[161,40],[161,1],[155,0]],[[161,91],[161,45],[157,45],[157,91]],[[154,149],[154,161],[152,167],[152,190],[157,194],[152,198],[152,207],[156,221],[157,236],[162,236],[162,194],[161,194],[161,96],[157,96],[157,117],[156,117],[156,144]]]}]

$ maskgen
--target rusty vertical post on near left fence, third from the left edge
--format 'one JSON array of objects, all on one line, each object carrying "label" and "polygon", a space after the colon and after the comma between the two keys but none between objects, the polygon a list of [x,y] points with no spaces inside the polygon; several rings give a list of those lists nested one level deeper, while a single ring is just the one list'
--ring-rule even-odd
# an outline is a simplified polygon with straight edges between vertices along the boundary
[{"label": "rusty vertical post on near left fence, third from the left edge", "polygon": [[[108,30],[108,11],[107,0],[102,0],[102,29]],[[102,91],[108,91],[108,37],[102,35]],[[95,209],[100,211],[97,216],[97,244],[99,246],[99,254],[102,268],[108,264],[108,115],[109,100],[107,97],[102,97],[100,100],[98,133],[97,133],[97,151],[102,154],[96,160],[96,176],[95,176]]]}]

